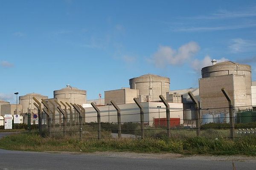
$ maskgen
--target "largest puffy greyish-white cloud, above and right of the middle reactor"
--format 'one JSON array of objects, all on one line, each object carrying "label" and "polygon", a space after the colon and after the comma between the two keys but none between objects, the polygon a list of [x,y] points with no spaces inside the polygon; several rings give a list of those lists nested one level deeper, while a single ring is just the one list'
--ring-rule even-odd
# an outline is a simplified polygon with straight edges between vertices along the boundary
[{"label": "largest puffy greyish-white cloud, above and right of the middle reactor", "polygon": [[157,67],[183,64],[200,50],[196,42],[182,45],[177,51],[169,46],[160,46],[150,59]]}]

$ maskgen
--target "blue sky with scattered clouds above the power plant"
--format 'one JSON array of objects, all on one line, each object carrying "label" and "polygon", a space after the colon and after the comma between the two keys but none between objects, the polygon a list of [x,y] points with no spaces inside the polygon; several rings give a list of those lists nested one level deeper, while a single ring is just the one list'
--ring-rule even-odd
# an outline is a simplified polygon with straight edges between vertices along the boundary
[{"label": "blue sky with scattered clouds above the power plant", "polygon": [[250,64],[256,80],[253,0],[0,0],[0,99],[67,84],[87,99],[157,74],[170,89],[198,87],[210,60]]}]

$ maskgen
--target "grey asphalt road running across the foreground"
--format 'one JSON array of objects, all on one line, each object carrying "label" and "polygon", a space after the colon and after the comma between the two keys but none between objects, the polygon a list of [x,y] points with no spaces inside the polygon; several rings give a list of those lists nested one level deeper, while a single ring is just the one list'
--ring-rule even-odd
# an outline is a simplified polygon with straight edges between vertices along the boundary
[{"label": "grey asphalt road running across the foreground", "polygon": [[[256,161],[234,163],[236,170],[256,169]],[[200,160],[189,157],[148,159],[0,149],[0,170],[233,170],[233,167],[232,161]]]}]

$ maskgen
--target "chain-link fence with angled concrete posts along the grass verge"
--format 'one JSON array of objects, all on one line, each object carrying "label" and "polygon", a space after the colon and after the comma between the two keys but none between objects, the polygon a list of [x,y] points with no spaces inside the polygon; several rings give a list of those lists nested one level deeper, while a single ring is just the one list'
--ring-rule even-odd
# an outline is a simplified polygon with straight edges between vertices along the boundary
[{"label": "chain-link fence with angled concrete posts along the grass verge", "polygon": [[[137,105],[135,105],[137,106]],[[80,111],[55,109],[41,113],[41,134],[53,137],[77,138],[240,138],[256,135],[256,109],[253,106],[209,109],[175,109],[125,105],[118,110],[113,105]],[[169,114],[169,116],[168,116]],[[199,117],[197,116],[199,115]],[[169,117],[169,121],[167,119]],[[168,126],[169,124],[169,126]]]}]

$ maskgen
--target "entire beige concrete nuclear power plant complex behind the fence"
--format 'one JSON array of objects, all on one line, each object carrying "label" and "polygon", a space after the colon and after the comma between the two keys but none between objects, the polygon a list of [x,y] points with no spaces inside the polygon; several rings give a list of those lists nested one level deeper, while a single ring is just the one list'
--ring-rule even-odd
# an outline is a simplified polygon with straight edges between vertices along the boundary
[{"label": "entire beige concrete nuclear power plant complex behind the fence", "polygon": [[[180,124],[186,120],[195,119],[194,103],[190,99],[188,92],[191,91],[200,105],[201,116],[204,111],[211,108],[227,108],[228,102],[221,88],[225,88],[233,102],[234,107],[244,107],[247,109],[255,109],[256,106],[256,82],[251,80],[250,65],[239,64],[236,62],[226,61],[216,63],[212,60],[212,65],[202,68],[202,77],[199,79],[198,88],[187,88],[180,90],[170,90],[170,78],[161,77],[154,74],[145,74],[134,77],[127,81],[130,88],[120,88],[105,91],[105,98],[87,100],[87,91],[66,85],[66,87],[53,91],[53,98],[41,94],[26,94],[19,97],[17,105],[9,102],[0,101],[0,115],[17,113],[37,113],[37,108],[33,105],[35,99],[44,99],[46,102],[52,103],[51,107],[57,107],[55,102],[63,102],[68,104],[81,105],[85,109],[85,113],[90,117],[95,110],[90,105],[93,102],[100,108],[102,114],[115,114],[116,110],[111,105],[111,100],[116,102],[120,108],[123,108],[123,114],[130,114],[133,110],[138,109],[134,102],[134,98],[142,103],[145,111],[151,114],[145,116],[148,125],[152,125],[154,119],[165,117],[165,105],[160,101],[159,95],[163,95],[170,105],[171,111],[176,111],[175,115],[171,115],[172,119],[179,119]],[[129,83],[129,84],[128,84]],[[172,85],[171,85],[172,86]],[[93,116],[92,116],[93,117]],[[139,119],[136,116],[122,117],[122,121],[129,122]],[[88,118],[87,121],[94,122],[94,118]],[[114,122],[114,118],[109,116],[103,117],[102,122]],[[191,121],[187,121],[187,124]]]}]

